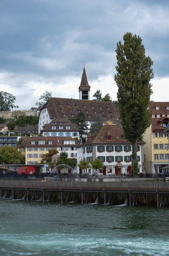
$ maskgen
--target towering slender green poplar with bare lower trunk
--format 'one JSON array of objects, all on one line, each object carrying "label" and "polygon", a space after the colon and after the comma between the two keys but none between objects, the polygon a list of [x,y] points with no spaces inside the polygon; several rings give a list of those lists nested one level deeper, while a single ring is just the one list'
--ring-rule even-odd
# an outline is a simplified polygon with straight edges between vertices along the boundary
[{"label": "towering slender green poplar with bare lower trunk", "polygon": [[150,126],[147,111],[152,94],[152,60],[145,55],[140,36],[127,32],[117,43],[117,99],[124,137],[132,143],[132,172],[137,172],[137,141]]}]

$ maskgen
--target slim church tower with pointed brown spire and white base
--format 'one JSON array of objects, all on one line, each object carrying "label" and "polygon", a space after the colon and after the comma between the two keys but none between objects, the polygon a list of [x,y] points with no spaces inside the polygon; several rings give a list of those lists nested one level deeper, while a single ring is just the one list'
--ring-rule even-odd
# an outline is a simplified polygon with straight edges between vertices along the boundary
[{"label": "slim church tower with pointed brown spire and white base", "polygon": [[83,68],[82,79],[79,86],[79,99],[90,99],[90,85],[87,81],[85,67]]}]

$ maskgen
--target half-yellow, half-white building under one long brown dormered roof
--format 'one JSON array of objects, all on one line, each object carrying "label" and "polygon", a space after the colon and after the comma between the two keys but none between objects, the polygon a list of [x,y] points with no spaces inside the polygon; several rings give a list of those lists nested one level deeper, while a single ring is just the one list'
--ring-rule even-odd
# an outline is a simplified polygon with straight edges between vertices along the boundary
[{"label": "half-yellow, half-white building under one long brown dormered roof", "polygon": [[72,137],[24,137],[23,143],[17,146],[25,157],[26,164],[41,163],[44,154],[50,149],[66,151],[68,157],[77,157],[79,144]]}]

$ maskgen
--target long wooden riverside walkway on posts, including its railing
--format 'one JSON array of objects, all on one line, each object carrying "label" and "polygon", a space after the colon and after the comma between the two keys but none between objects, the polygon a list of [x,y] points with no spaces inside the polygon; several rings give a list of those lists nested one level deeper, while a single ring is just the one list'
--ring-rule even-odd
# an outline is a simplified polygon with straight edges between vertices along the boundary
[{"label": "long wooden riverside walkway on posts, including its railing", "polygon": [[[163,180],[163,179],[162,179]],[[0,180],[0,199],[37,201],[76,201],[119,204],[128,198],[129,206],[153,204],[169,207],[169,181],[60,181],[60,180]]]}]

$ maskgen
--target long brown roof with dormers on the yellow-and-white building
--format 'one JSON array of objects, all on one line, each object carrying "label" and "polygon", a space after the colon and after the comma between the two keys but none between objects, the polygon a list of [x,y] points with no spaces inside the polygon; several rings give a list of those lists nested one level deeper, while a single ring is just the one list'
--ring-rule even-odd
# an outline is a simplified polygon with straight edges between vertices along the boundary
[{"label": "long brown roof with dormers on the yellow-and-white building", "polygon": [[[40,140],[45,140],[45,144],[40,144],[39,145],[39,141]],[[23,139],[23,143],[21,143],[20,145],[17,146],[17,148],[22,148],[22,147],[60,147],[60,146],[68,146],[68,144],[64,144],[63,141],[64,140],[74,140],[72,137],[44,137],[44,136],[40,136],[40,137],[24,137]],[[32,145],[31,142],[35,141],[35,144]],[[52,141],[52,144],[49,144],[49,141]],[[59,141],[59,142],[58,142]],[[78,146],[79,143],[77,143],[77,141],[75,141],[75,144],[69,144],[69,146]]]}]

